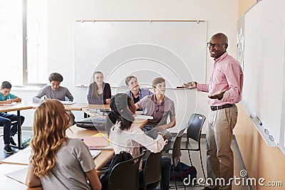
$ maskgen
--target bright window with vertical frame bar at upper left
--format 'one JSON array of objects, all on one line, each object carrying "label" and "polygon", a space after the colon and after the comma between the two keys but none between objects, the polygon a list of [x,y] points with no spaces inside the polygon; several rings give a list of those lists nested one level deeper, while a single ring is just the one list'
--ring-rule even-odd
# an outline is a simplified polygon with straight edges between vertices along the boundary
[{"label": "bright window with vertical frame bar at upper left", "polygon": [[12,85],[41,85],[47,75],[47,0],[0,4],[0,78]]}]

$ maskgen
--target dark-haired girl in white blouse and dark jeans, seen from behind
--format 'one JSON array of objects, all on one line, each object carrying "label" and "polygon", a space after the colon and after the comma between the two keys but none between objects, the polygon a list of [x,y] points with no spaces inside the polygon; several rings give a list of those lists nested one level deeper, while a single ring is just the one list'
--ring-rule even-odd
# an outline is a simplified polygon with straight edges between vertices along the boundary
[{"label": "dark-haired girl in white blouse and dark jeans, seen from behind", "polygon": [[[114,97],[114,112],[119,113],[115,125],[110,129],[110,144],[115,154],[121,151],[129,152],[133,157],[140,155],[140,147],[149,149],[150,152],[160,152],[166,142],[164,136],[159,133],[156,139],[148,137],[139,127],[133,126],[133,112],[130,111],[130,101],[128,95],[119,93]],[[132,107],[132,106],[131,106]],[[145,159],[140,163],[140,170],[144,167]],[[169,189],[170,180],[170,157],[162,157],[161,173],[163,189]],[[140,172],[140,186],[143,181],[142,172]]]}]

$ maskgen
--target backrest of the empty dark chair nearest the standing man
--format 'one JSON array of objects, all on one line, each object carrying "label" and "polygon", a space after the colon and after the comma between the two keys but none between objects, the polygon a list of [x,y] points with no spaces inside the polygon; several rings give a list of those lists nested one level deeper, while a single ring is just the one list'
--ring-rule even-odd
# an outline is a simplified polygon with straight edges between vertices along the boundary
[{"label": "backrest of the empty dark chair nearest the standing man", "polygon": [[187,139],[194,139],[199,142],[202,132],[202,127],[206,117],[201,114],[194,113],[190,116],[188,121]]}]

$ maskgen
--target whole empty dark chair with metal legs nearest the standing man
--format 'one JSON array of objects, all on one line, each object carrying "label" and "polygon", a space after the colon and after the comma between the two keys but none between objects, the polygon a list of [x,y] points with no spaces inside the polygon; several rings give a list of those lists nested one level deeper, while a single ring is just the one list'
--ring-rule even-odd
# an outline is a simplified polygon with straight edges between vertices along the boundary
[{"label": "whole empty dark chair with metal legs nearest the standing man", "polygon": [[[206,176],[204,174],[204,167],[203,167],[202,154],[201,154],[201,132],[202,132],[202,127],[203,127],[205,120],[206,120],[206,117],[204,117],[204,115],[197,114],[197,113],[192,114],[188,121],[187,141],[181,142],[181,150],[187,150],[191,166],[192,166],[192,160],[190,156],[190,151],[199,151],[200,162],[201,162],[204,179],[206,179]],[[192,147],[192,144],[190,143],[190,139],[192,139],[191,140],[192,142],[193,140],[194,142],[197,142],[198,146]]]}]

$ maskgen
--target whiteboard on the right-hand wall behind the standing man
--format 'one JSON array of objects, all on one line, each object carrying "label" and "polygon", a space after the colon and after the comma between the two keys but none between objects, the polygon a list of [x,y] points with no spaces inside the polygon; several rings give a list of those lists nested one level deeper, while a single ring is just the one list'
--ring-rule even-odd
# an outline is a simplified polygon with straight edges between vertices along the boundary
[{"label": "whiteboard on the right-hand wall behind the standing man", "polygon": [[[244,26],[243,100],[279,145],[284,95],[284,0],[259,1]],[[282,116],[283,115],[283,116]]]}]

